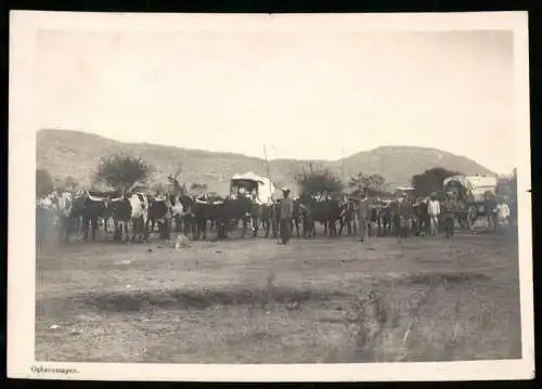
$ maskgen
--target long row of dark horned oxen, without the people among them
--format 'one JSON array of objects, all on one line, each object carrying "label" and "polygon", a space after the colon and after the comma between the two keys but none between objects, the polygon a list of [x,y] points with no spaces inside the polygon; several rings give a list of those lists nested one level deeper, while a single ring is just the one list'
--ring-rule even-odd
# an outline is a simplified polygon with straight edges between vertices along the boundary
[{"label": "long row of dark horned oxen, without the people among them", "polygon": [[[207,238],[208,230],[217,232],[217,238],[242,224],[242,236],[279,234],[280,199],[271,204],[258,204],[249,197],[197,197],[194,195],[149,196],[144,193],[79,191],[54,192],[38,202],[38,208],[56,213],[60,239],[67,242],[74,232],[82,232],[83,239],[94,241],[96,231],[103,228],[113,232],[114,241],[147,242],[151,233],[158,230],[162,239],[170,238],[170,232],[183,232],[193,239]],[[357,234],[357,202],[346,197],[297,197],[294,200],[292,232],[297,237],[315,237],[315,223],[321,223],[324,234]],[[367,220],[370,235],[400,235],[420,232],[427,224],[427,209],[420,204],[403,200],[372,202]],[[107,231],[108,221],[113,231]],[[338,229],[337,229],[338,228]],[[89,236],[90,234],[90,236]]]}]

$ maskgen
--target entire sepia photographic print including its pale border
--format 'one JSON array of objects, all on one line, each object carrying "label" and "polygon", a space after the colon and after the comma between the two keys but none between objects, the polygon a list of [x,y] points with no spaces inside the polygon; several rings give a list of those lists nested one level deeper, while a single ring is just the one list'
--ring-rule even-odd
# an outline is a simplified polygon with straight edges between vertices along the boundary
[{"label": "entire sepia photographic print including its pale border", "polygon": [[9,375],[533,377],[526,12],[11,30]]}]

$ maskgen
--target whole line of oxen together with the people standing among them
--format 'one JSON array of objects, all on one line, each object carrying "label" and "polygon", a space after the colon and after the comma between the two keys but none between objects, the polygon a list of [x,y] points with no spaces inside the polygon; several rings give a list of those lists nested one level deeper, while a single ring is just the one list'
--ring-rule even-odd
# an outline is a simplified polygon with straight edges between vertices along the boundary
[{"label": "whole line of oxen together with the people standing among them", "polygon": [[[437,194],[427,197],[409,198],[405,194],[393,199],[377,196],[292,196],[288,187],[282,187],[282,198],[260,202],[257,190],[241,187],[227,197],[207,194],[160,194],[147,195],[128,190],[117,192],[54,191],[37,202],[38,241],[50,226],[43,216],[54,215],[60,239],[67,242],[73,232],[82,231],[83,239],[95,239],[96,230],[111,229],[113,238],[120,241],[147,242],[150,234],[158,230],[162,239],[169,239],[171,228],[206,238],[207,225],[217,231],[218,238],[224,238],[241,222],[243,237],[248,229],[253,236],[281,237],[287,244],[295,230],[296,236],[315,237],[315,223],[324,228],[325,235],[341,235],[346,228],[348,235],[363,242],[366,236],[430,234],[439,231],[446,237],[454,235],[455,220],[463,225],[469,220],[464,211],[464,202],[453,191],[441,198]],[[504,222],[514,224],[514,212],[506,198],[486,196],[488,225],[492,229]],[[41,216],[41,217],[40,217]],[[46,221],[43,221],[46,220]],[[50,219],[49,219],[50,220]],[[113,223],[113,225],[111,225]],[[469,224],[469,223],[467,223]],[[337,230],[338,226],[338,230]]]}]

